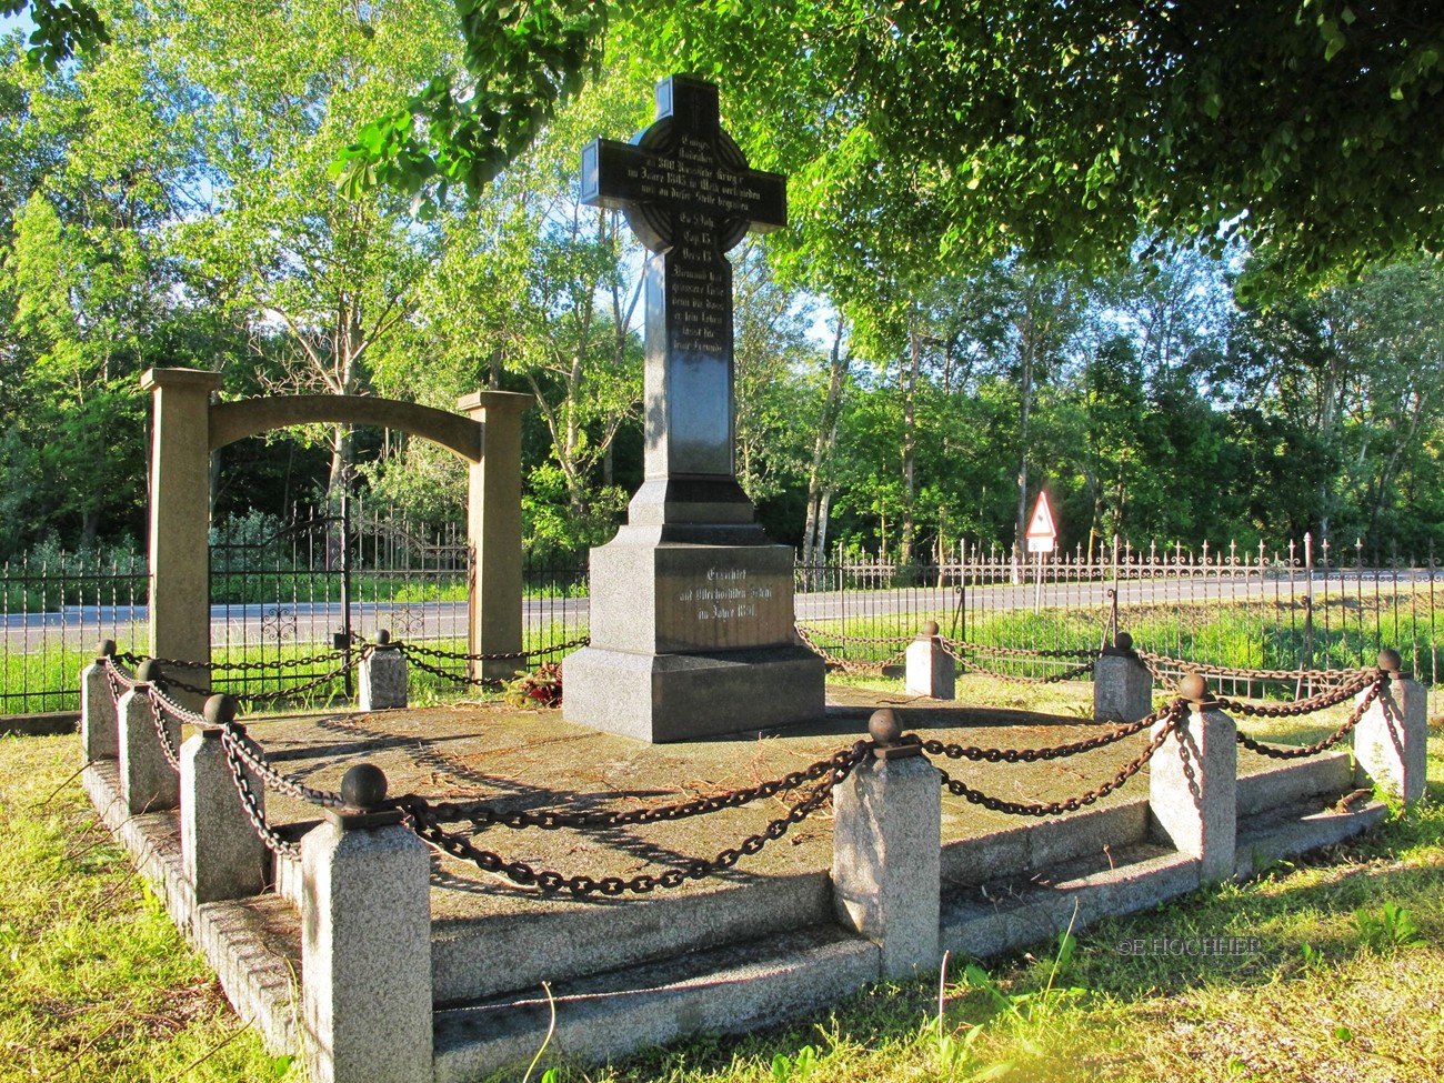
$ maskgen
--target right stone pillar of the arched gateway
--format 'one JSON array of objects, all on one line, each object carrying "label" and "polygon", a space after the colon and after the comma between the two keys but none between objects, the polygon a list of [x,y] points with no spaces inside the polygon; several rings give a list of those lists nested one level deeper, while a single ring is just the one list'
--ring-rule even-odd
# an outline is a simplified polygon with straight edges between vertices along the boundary
[{"label": "right stone pillar of the arched gateway", "polygon": [[[456,400],[482,427],[482,456],[466,482],[466,540],[472,552],[471,654],[514,654],[521,614],[521,412],[529,394],[472,391]],[[524,661],[471,663],[472,677],[508,679]]]}]

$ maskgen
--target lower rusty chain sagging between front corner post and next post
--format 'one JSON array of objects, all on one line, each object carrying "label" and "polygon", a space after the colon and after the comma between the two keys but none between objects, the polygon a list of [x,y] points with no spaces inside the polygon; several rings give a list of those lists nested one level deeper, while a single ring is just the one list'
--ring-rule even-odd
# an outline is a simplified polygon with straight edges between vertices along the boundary
[{"label": "lower rusty chain sagging between front corner post and next post", "polygon": [[[469,839],[442,829],[440,823],[430,820],[426,814],[427,810],[420,806],[406,810],[406,823],[420,838],[453,858],[471,861],[484,872],[498,872],[520,887],[536,887],[544,894],[553,894],[565,888],[576,898],[585,898],[592,894],[615,897],[631,892],[644,895],[657,888],[679,888],[689,879],[703,879],[729,869],[741,858],[758,853],[768,842],[781,839],[794,823],[801,823],[822,807],[830,799],[832,787],[842,783],[869,751],[869,742],[859,741],[851,749],[838,752],[829,761],[830,770],[827,777],[819,781],[806,799],[788,809],[786,816],[773,820],[760,833],[749,835],[735,848],[729,846],[721,851],[710,861],[689,861],[686,868],[670,868],[656,875],[643,872],[630,879],[622,879],[621,877],[602,877],[601,879],[586,875],[563,877],[560,872],[553,872],[552,869],[542,869],[539,872],[523,861],[507,861],[500,853],[484,851],[474,846]],[[404,809],[404,806],[401,807]]]}]

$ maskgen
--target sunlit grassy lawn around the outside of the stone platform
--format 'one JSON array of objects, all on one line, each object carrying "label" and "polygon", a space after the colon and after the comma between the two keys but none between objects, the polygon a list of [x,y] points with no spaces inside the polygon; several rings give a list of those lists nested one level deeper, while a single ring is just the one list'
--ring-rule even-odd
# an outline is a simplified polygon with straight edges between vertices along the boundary
[{"label": "sunlit grassy lawn around the outside of the stone platform", "polygon": [[[1045,702],[1024,686],[1006,695],[1070,712],[1066,687]],[[74,738],[0,741],[0,1080],[302,1079],[240,1027],[108,842],[69,778],[77,758]],[[1431,726],[1424,803],[1246,885],[1021,957],[953,959],[941,986],[939,975],[877,986],[745,1038],[606,1067],[549,1057],[537,1071],[559,1083],[1438,1083],[1444,726]],[[495,1079],[521,1083],[523,1070]]]}]

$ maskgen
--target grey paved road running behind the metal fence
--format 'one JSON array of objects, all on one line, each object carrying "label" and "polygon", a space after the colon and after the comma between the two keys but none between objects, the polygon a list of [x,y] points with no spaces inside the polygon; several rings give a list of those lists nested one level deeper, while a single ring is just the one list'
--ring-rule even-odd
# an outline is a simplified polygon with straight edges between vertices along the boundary
[{"label": "grey paved road running behind the metal fence", "polygon": [[[1406,585],[1417,575],[1385,572],[1383,589],[1395,583]],[[1422,578],[1422,576],[1421,576]],[[1327,585],[1327,586],[1326,586]],[[1001,609],[1028,609],[1035,599],[1044,606],[1102,608],[1110,602],[1110,583],[1047,583],[1041,595],[1031,583],[1021,586],[972,586],[967,589],[969,615]],[[1372,575],[1363,583],[1357,573],[1314,573],[1315,595],[1337,595],[1375,586]],[[1167,605],[1171,602],[1243,601],[1249,598],[1287,599],[1291,591],[1301,595],[1304,578],[1294,579],[1149,579],[1125,580],[1119,585],[1119,605]],[[887,614],[952,614],[957,605],[954,588],[914,588],[892,591],[826,591],[800,593],[796,601],[797,619],[816,624],[842,618],[866,618]],[[399,638],[439,640],[465,638],[466,602],[358,602],[351,606],[352,628],[362,635],[374,635],[378,628],[390,628]],[[530,628],[549,624],[562,625],[560,635],[570,638],[572,630],[585,624],[586,598],[529,599],[526,619]],[[7,654],[27,654],[62,648],[88,650],[103,637],[121,644],[144,643],[146,606],[68,606],[58,612],[9,614],[0,617],[0,643]],[[277,635],[289,643],[329,645],[332,632],[341,628],[339,602],[297,602],[293,605],[217,605],[211,606],[211,638],[217,645],[274,643]],[[944,625],[946,630],[946,625]]]}]

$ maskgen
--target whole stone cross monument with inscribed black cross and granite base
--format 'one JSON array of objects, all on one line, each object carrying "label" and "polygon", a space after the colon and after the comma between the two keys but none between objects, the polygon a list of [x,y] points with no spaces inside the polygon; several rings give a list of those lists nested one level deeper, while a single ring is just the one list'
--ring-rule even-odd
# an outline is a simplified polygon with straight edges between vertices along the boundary
[{"label": "whole stone cross monument with inscribed black cross and granite base", "polygon": [[619,208],[647,264],[645,479],[592,550],[591,645],[563,712],[644,741],[819,718],[823,663],[793,632],[793,554],[770,544],[734,466],[732,267],[787,222],[787,180],[749,169],[718,90],[673,75],[631,143],[582,152],[582,202]]}]

